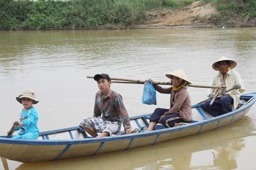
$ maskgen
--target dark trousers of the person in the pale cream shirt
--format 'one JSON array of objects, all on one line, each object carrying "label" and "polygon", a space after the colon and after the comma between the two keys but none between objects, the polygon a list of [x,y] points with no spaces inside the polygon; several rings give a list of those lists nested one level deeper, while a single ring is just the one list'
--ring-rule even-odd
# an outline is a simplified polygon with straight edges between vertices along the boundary
[{"label": "dark trousers of the person in the pale cream shirt", "polygon": [[210,112],[213,116],[220,115],[222,109],[224,113],[232,111],[231,105],[234,103],[234,99],[230,97],[230,95],[216,98],[212,105],[210,105],[211,101],[211,99],[205,101],[202,104],[202,107],[204,107],[204,109]]}]

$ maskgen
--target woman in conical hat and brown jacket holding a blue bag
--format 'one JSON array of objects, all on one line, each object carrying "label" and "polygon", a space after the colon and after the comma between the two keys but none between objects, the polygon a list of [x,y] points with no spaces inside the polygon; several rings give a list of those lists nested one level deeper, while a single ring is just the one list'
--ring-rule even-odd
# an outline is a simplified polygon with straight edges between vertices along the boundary
[{"label": "woman in conical hat and brown jacket holding a blue bag", "polygon": [[[170,88],[162,88],[154,84],[159,93],[171,94],[170,109],[157,108],[150,116],[150,123],[147,131],[153,130],[157,123],[166,128],[177,127],[179,123],[189,123],[192,120],[191,100],[188,93],[188,84],[191,82],[184,70],[179,69],[166,74],[172,85]],[[148,79],[147,81],[152,81]]]}]

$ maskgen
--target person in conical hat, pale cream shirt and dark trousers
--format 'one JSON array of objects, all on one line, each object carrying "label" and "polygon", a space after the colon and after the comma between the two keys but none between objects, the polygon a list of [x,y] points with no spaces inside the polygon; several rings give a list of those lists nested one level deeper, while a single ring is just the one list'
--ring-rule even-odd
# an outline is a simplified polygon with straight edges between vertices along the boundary
[{"label": "person in conical hat, pale cream shirt and dark trousers", "polygon": [[[236,61],[226,57],[221,57],[218,61],[212,64],[212,68],[217,70],[218,73],[214,76],[211,85],[227,86],[227,89],[234,88],[234,90],[228,91],[227,93],[227,89],[209,89],[207,91],[209,100],[204,102],[202,106],[214,116],[220,115],[221,112],[227,113],[236,110],[237,105],[240,102],[240,93],[245,90],[245,87],[239,73],[232,70],[236,65]],[[216,97],[217,95],[218,97]]]}]

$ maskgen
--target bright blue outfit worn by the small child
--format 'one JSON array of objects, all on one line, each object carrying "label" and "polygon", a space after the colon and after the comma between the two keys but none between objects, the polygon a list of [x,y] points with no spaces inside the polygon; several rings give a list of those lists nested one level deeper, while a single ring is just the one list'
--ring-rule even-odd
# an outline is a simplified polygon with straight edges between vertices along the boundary
[{"label": "bright blue outfit worn by the small child", "polygon": [[31,107],[28,111],[19,113],[19,120],[23,123],[22,127],[15,127],[15,131],[20,130],[19,134],[13,135],[12,139],[38,139],[39,129],[37,127],[38,113],[35,107]]}]

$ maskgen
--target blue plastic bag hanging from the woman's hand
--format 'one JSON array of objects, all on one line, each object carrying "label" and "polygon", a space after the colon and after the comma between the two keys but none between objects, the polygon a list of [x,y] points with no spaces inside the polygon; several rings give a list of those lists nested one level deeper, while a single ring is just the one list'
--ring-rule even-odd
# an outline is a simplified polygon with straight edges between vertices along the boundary
[{"label": "blue plastic bag hanging from the woman's hand", "polygon": [[142,103],[143,104],[154,104],[156,105],[156,89],[153,87],[151,81],[148,81],[145,84],[142,95]]}]

